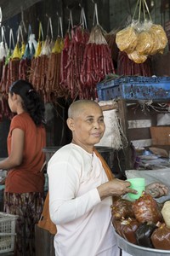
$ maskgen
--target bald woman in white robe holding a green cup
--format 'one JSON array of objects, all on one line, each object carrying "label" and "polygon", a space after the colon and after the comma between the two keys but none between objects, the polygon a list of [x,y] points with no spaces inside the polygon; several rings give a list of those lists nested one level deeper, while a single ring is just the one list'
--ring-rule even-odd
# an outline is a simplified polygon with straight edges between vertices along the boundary
[{"label": "bald woman in white robe holding a green cup", "polygon": [[48,162],[49,211],[57,234],[55,254],[62,256],[119,256],[111,224],[111,196],[125,195],[130,183],[108,180],[94,145],[105,132],[99,104],[73,102],[67,125],[72,142]]}]

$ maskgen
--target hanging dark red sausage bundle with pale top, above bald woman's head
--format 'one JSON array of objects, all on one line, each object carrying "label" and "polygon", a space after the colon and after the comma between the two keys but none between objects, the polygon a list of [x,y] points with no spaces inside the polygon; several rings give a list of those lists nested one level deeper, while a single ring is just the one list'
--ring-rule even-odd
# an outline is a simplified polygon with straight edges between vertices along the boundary
[{"label": "hanging dark red sausage bundle with pale top, above bald woman's head", "polygon": [[96,3],[94,4],[95,17],[97,24],[93,26],[90,32],[88,44],[86,44],[84,50],[80,74],[82,90],[88,92],[87,96],[84,96],[94,99],[97,97],[95,93],[96,84],[105,79],[105,75],[115,73],[111,59],[111,49],[105,40],[105,32],[99,25]]}]

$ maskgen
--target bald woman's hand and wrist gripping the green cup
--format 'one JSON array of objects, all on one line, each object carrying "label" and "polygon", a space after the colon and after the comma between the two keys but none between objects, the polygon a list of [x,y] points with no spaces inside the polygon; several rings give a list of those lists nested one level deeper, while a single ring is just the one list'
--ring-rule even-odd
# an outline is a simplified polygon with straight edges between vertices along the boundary
[{"label": "bald woman's hand and wrist gripping the green cup", "polygon": [[127,181],[114,178],[107,183],[101,184],[97,189],[101,200],[108,196],[121,196],[127,193],[138,194],[138,191],[129,188],[130,185],[131,183]]}]

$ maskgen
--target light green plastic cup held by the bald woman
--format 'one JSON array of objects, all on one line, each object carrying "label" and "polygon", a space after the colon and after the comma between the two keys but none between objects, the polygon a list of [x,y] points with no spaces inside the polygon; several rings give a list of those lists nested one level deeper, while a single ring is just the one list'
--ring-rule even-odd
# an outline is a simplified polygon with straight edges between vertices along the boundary
[{"label": "light green plastic cup held by the bald woman", "polygon": [[127,181],[131,183],[129,188],[138,191],[138,194],[128,193],[127,195],[129,196],[130,199],[139,199],[139,197],[142,195],[142,192],[145,190],[144,177],[128,178]]}]

